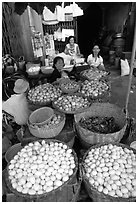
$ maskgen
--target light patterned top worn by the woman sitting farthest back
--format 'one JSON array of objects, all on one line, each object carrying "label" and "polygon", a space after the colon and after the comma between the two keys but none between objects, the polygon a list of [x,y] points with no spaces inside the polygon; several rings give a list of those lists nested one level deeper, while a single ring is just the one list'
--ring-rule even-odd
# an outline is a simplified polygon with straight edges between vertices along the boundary
[{"label": "light patterned top worn by the woman sitting farthest back", "polygon": [[65,53],[69,54],[71,56],[79,55],[80,50],[78,44],[74,43],[74,46],[71,47],[70,44],[68,43],[65,47]]}]

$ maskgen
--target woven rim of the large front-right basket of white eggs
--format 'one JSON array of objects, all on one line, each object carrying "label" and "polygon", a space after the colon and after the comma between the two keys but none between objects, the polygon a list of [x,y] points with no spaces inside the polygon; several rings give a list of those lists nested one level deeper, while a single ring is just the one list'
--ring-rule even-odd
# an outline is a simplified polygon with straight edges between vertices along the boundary
[{"label": "woven rim of the large front-right basket of white eggs", "polygon": [[93,187],[90,182],[89,182],[89,179],[86,177],[85,173],[84,173],[84,160],[85,158],[87,157],[88,153],[91,151],[91,149],[95,149],[95,148],[98,148],[98,147],[101,147],[101,146],[104,146],[104,145],[109,145],[109,144],[112,144],[112,145],[116,145],[118,147],[123,147],[123,148],[128,148],[130,150],[132,150],[134,152],[134,154],[136,154],[136,150],[131,148],[129,145],[126,145],[126,144],[123,144],[123,143],[117,143],[117,142],[105,142],[103,144],[95,144],[93,146],[91,146],[83,155],[83,158],[82,158],[82,162],[80,164],[80,168],[81,168],[81,174],[82,174],[82,178],[85,182],[88,183],[88,185],[90,186],[91,190],[95,191],[95,192],[98,192],[98,194],[101,194],[103,196],[106,196],[107,198],[112,198],[112,199],[123,199],[124,201],[128,201],[128,199],[130,200],[133,200],[133,199],[136,199],[136,197],[130,197],[130,198],[122,198],[122,197],[113,197],[113,196],[110,196],[108,194],[105,194],[103,192],[99,192],[98,189],[96,189],[95,187]]}]

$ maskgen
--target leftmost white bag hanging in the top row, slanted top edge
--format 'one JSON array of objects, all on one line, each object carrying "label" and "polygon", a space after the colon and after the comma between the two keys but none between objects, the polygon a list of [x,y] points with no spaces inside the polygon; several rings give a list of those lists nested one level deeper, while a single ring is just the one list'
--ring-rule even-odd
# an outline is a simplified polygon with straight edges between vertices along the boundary
[{"label": "leftmost white bag hanging in the top row, slanted top edge", "polygon": [[46,6],[44,7],[42,16],[46,25],[55,25],[58,23],[57,15],[52,13]]}]

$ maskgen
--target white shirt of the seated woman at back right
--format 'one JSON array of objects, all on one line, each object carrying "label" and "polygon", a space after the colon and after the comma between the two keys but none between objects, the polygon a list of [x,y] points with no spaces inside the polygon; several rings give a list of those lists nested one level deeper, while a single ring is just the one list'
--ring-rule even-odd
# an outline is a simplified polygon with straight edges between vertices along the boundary
[{"label": "white shirt of the seated woman at back right", "polygon": [[92,54],[90,54],[87,58],[87,63],[90,66],[96,66],[98,67],[99,65],[104,65],[103,64],[103,58],[101,56],[97,57],[97,59],[95,60],[95,58],[93,57]]}]

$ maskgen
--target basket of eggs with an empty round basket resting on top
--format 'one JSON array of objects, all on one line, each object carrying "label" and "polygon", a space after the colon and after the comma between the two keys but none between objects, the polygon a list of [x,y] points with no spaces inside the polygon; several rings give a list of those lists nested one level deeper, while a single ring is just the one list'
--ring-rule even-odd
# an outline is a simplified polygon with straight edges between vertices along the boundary
[{"label": "basket of eggs with an empty round basket resting on top", "polygon": [[[54,111],[49,112],[47,119],[48,107],[43,107],[31,113],[28,120],[28,128],[32,135],[39,138],[52,138],[57,136],[65,125],[65,115]],[[50,114],[51,113],[51,114]],[[38,123],[39,121],[39,123]],[[41,122],[40,122],[41,121]]]}]

